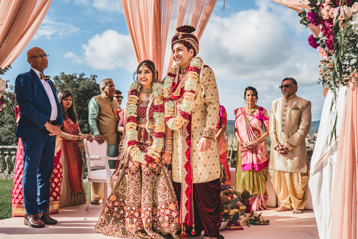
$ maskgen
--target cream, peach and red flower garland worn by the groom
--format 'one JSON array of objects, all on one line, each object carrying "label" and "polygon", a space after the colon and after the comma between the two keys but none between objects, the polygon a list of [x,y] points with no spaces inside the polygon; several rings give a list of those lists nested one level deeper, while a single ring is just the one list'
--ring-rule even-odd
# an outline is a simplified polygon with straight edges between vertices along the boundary
[{"label": "cream, peach and red flower garland worn by the groom", "polygon": [[[188,122],[189,115],[193,107],[197,82],[199,80],[200,69],[202,68],[202,59],[194,57],[189,66],[188,73],[185,77],[187,80],[184,85],[183,103],[178,105],[178,115],[175,117],[175,102],[171,98],[172,83],[176,77],[178,66],[175,65],[170,69],[168,76],[165,78],[163,85],[164,105],[165,105],[165,121],[170,129],[181,128]],[[181,91],[181,89],[177,89]]]}]

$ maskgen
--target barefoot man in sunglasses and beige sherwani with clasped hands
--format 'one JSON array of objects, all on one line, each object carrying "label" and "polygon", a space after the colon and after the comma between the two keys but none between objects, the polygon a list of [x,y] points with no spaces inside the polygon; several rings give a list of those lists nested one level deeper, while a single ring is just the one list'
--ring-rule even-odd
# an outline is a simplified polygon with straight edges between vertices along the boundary
[{"label": "barefoot man in sunglasses and beige sherwani with clasped hands", "polygon": [[271,153],[269,172],[280,207],[275,211],[302,213],[309,179],[305,138],[311,125],[311,102],[296,96],[297,81],[281,82],[283,97],[272,101],[270,111]]}]

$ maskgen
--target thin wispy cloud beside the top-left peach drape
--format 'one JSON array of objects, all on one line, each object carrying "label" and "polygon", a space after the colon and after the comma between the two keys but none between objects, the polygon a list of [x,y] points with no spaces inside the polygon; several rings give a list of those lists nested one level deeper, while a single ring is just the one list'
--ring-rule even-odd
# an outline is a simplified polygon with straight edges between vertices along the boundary
[{"label": "thin wispy cloud beside the top-left peach drape", "polygon": [[56,21],[55,18],[46,16],[33,39],[38,39],[40,37],[46,37],[49,40],[53,38],[63,38],[73,35],[79,30],[79,28],[71,24],[60,23]]}]

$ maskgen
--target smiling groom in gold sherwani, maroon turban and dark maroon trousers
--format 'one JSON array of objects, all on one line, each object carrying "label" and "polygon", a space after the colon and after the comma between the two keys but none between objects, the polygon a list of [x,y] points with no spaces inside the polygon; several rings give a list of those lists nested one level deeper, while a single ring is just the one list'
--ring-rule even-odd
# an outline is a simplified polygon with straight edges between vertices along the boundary
[{"label": "smiling groom in gold sherwani, maroon turban and dark maroon trousers", "polygon": [[[184,125],[174,129],[166,118],[168,127],[174,129],[171,131],[167,128],[166,145],[167,139],[172,135],[172,179],[181,205],[182,236],[186,233],[200,235],[204,230],[203,238],[222,238],[219,233],[220,158],[215,137],[220,107],[217,85],[213,71],[204,66],[202,59],[194,58],[199,50],[199,42],[191,33],[195,28],[182,26],[177,31],[171,41],[173,59],[177,66],[170,71],[173,82],[168,87],[171,88],[169,97],[174,102],[176,115],[179,117],[186,105],[183,101],[188,94],[188,80],[192,79],[192,62],[196,60],[197,70],[201,69],[196,73],[196,88],[189,91],[195,97],[191,99],[191,114],[186,115]],[[165,111],[168,112],[167,105]],[[170,152],[167,146],[165,151],[164,160]]]}]

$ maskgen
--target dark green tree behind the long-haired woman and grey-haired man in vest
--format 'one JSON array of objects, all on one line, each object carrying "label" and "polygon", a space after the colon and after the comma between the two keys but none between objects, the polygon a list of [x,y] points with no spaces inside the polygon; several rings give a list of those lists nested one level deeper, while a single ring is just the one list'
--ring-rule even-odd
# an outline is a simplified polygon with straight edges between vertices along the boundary
[{"label": "dark green tree behind the long-haired woman and grey-haired man in vest", "polygon": [[84,76],[84,73],[77,75],[77,73],[64,74],[64,72],[61,72],[53,77],[53,81],[56,84],[57,93],[61,90],[69,90],[71,92],[81,132],[89,134],[88,102],[93,96],[100,95],[101,90],[96,82],[96,75],[91,75],[90,77]]}]

